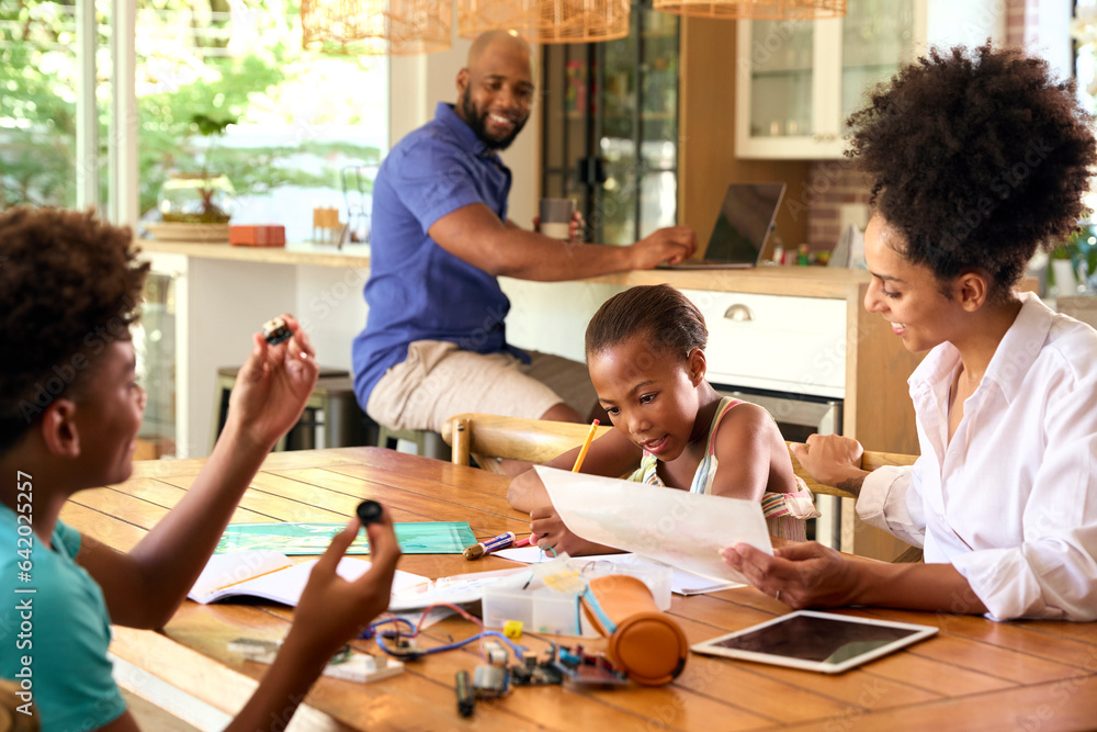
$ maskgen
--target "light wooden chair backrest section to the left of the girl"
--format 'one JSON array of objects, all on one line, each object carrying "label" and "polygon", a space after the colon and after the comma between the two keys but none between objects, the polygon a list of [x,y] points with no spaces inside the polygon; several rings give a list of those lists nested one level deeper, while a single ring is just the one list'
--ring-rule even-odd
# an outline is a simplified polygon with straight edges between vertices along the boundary
[{"label": "light wooden chair backrest section to the left of the girl", "polygon": [[[595,438],[613,429],[597,427]],[[590,425],[466,413],[445,420],[442,439],[453,449],[453,463],[467,465],[470,454],[545,463],[577,448]]]}]

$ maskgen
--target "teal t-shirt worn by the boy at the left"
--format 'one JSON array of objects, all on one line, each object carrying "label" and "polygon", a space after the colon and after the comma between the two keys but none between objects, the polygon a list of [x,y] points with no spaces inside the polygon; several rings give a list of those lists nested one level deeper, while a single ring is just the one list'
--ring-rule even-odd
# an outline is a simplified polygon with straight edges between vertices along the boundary
[{"label": "teal t-shirt worn by the boy at the left", "polygon": [[[58,521],[53,547],[45,547],[37,534],[21,534],[20,523],[26,525],[0,505],[0,678],[25,688],[29,675],[42,732],[98,729],[126,708],[106,657],[111,621],[103,592],[73,561],[76,529]],[[29,579],[20,567],[27,560],[18,553],[27,538]]]}]

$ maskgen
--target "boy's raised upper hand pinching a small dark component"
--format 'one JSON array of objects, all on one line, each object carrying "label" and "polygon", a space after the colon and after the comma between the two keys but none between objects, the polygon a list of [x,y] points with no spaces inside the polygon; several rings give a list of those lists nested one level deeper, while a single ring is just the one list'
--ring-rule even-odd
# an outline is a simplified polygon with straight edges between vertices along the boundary
[{"label": "boy's raised upper hand pinching a small dark component", "polygon": [[301,324],[291,315],[282,318],[293,337],[271,346],[262,335],[252,335],[255,346],[229,398],[229,421],[268,449],[301,418],[319,373]]}]

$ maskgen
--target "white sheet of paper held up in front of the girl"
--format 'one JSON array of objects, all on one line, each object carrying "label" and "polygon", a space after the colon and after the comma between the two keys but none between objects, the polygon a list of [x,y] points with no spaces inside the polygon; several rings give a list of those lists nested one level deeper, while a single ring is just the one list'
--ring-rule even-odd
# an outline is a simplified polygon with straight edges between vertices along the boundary
[{"label": "white sheet of paper held up in front of the girl", "polygon": [[536,465],[553,507],[576,536],[717,582],[746,584],[720,550],[748,543],[773,553],[761,504],[703,496]]}]

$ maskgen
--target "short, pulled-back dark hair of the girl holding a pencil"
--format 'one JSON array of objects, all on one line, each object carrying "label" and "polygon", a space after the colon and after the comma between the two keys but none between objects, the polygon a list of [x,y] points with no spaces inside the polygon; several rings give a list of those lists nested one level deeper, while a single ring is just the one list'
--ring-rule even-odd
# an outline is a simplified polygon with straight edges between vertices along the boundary
[{"label": "short, pulled-back dark hair of the girl holding a pencil", "polygon": [[704,316],[686,295],[669,284],[637,285],[607,300],[590,318],[587,356],[637,335],[647,336],[654,352],[681,359],[709,340]]}]

